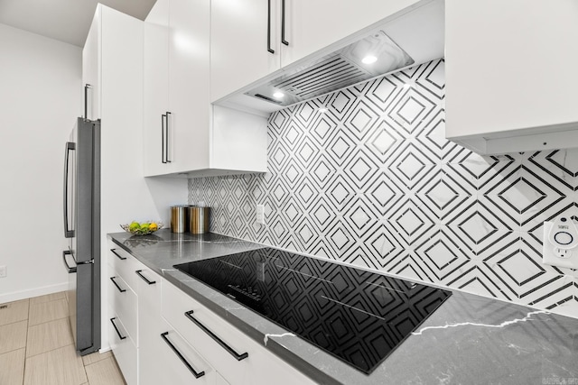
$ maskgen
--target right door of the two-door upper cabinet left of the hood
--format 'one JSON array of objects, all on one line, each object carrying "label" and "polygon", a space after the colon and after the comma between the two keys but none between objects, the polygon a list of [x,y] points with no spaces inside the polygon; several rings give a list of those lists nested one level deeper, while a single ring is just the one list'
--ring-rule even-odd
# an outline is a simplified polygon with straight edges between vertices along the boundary
[{"label": "right door of the two-door upper cabinet left of the hood", "polygon": [[171,0],[169,160],[172,172],[209,167],[210,2]]}]

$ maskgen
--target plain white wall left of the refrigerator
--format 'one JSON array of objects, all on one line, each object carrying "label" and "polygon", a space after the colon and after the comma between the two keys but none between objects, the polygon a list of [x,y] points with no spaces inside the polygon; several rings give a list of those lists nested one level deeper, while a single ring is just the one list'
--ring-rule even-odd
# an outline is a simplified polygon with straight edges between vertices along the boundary
[{"label": "plain white wall left of the refrigerator", "polygon": [[0,303],[66,289],[64,142],[81,114],[79,47],[0,24]]}]

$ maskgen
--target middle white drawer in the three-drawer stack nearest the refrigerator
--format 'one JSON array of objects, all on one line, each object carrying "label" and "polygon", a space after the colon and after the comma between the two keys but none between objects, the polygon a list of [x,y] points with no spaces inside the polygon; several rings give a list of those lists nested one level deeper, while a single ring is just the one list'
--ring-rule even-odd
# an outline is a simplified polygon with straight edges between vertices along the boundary
[{"label": "middle white drawer in the three-drawer stack nearest the refrigerator", "polygon": [[126,334],[138,346],[136,294],[120,275],[112,275],[108,280],[108,303],[111,314],[122,319]]}]

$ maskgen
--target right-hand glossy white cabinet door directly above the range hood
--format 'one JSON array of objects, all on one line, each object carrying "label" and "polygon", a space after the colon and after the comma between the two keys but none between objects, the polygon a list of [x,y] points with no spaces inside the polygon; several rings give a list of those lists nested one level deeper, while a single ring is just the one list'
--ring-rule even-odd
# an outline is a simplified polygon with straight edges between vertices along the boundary
[{"label": "right-hand glossy white cabinet door directly above the range hood", "polygon": [[[281,0],[278,0],[281,2]],[[378,23],[416,0],[285,0],[285,41],[281,66]]]}]

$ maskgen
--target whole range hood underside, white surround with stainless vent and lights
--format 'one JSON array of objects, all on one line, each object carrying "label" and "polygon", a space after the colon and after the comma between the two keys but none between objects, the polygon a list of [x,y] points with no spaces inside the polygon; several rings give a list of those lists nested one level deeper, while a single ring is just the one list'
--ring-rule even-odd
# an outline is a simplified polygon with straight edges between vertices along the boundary
[{"label": "whole range hood underside, white surround with stainless vent and lights", "polygon": [[287,105],[443,58],[443,32],[444,1],[423,0],[217,104],[268,115]]}]

